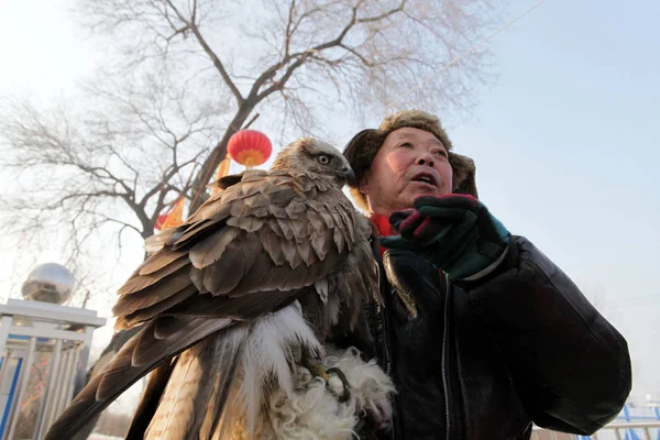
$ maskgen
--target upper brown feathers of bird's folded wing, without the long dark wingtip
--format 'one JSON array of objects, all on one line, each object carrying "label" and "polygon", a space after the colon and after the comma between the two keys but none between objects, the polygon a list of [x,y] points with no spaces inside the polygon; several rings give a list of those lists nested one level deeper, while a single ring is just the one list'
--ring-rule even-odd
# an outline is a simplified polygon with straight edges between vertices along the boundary
[{"label": "upper brown feathers of bird's folded wing, without the long dark wingtip", "polygon": [[168,232],[120,288],[117,326],[161,316],[249,319],[283,307],[289,290],[343,263],[356,241],[353,211],[323,179],[246,174]]}]

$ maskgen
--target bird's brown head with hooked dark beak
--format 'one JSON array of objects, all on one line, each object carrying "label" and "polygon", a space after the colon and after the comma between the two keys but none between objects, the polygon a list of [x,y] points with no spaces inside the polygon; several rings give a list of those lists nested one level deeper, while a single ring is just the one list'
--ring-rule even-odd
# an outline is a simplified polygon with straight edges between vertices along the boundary
[{"label": "bird's brown head with hooked dark beak", "polygon": [[302,138],[284,147],[273,170],[310,172],[342,186],[355,177],[351,165],[334,146],[314,138]]}]

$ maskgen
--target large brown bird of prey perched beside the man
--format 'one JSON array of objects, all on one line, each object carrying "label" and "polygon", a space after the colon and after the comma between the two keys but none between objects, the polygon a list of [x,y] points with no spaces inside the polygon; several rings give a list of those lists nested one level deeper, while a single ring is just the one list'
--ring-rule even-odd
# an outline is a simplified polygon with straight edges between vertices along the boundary
[{"label": "large brown bird of prey perched beside the man", "polygon": [[293,393],[299,365],[321,364],[338,333],[369,333],[361,311],[377,300],[377,266],[369,220],[341,189],[351,178],[339,151],[301,139],[268,172],[218,180],[184,224],[147,239],[113,308],[117,329],[142,330],[46,439],[72,438],[150,372],[127,438],[231,438],[237,420],[258,438],[268,396]]}]

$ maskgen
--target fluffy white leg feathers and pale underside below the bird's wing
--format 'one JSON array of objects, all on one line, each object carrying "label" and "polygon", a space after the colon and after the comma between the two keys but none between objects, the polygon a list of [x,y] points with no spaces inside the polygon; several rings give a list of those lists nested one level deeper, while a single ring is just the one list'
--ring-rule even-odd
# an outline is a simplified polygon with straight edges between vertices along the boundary
[{"label": "fluffy white leg feathers and pale underside below the bird's wing", "polygon": [[[322,354],[326,370],[341,370],[351,388],[346,402],[340,402],[344,388],[338,376],[331,374],[327,386],[299,364],[301,348]],[[350,440],[361,417],[384,425],[392,416],[394,385],[385,372],[375,361],[362,361],[355,349],[326,346],[323,353],[297,304],[260,319],[240,359],[224,433],[213,439]]]}]

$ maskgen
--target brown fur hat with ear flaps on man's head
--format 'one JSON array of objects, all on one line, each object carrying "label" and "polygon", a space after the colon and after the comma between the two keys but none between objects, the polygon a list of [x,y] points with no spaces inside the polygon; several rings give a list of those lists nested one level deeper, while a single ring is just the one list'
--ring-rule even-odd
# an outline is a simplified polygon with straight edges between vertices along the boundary
[{"label": "brown fur hat with ear flaps on man's head", "polygon": [[355,134],[344,148],[343,154],[355,173],[355,179],[349,183],[349,187],[351,188],[353,199],[360,208],[364,210],[369,209],[366,198],[360,193],[360,182],[371,168],[371,164],[378,150],[381,150],[383,142],[385,142],[385,138],[393,131],[404,127],[428,131],[438,138],[449,152],[449,163],[453,170],[452,193],[469,194],[477,197],[474,161],[451,152],[451,141],[442,128],[440,120],[426,111],[404,110],[385,117],[377,130],[369,129]]}]

